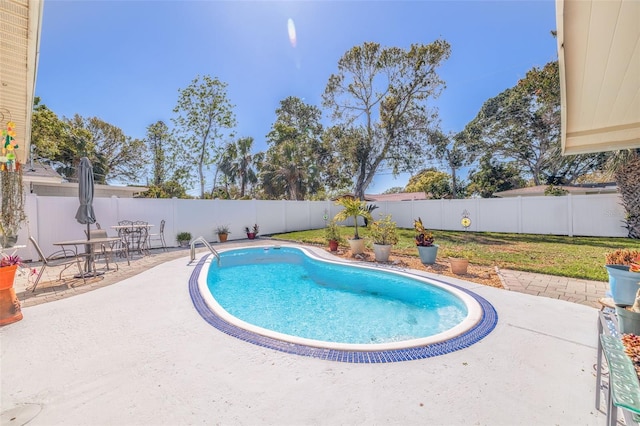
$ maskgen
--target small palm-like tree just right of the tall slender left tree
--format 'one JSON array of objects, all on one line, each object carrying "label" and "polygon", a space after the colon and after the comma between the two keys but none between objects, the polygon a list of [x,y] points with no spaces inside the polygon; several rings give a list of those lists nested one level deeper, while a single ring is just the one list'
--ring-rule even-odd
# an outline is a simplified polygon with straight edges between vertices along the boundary
[{"label": "small palm-like tree just right of the tall slender left tree", "polygon": [[[254,156],[251,154],[253,138],[240,138],[236,142],[227,144],[220,162],[220,169],[231,183],[240,182],[240,198],[244,198],[247,184],[258,182],[258,176],[253,169]],[[262,154],[258,154],[260,157]]]}]

